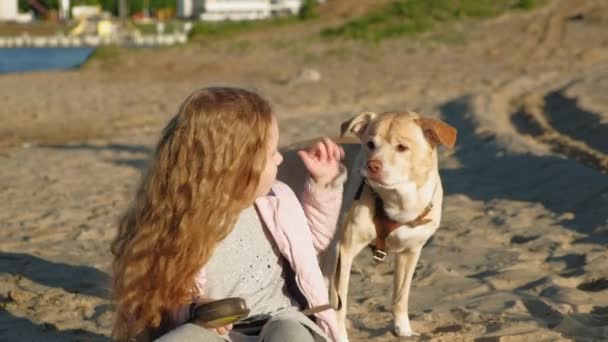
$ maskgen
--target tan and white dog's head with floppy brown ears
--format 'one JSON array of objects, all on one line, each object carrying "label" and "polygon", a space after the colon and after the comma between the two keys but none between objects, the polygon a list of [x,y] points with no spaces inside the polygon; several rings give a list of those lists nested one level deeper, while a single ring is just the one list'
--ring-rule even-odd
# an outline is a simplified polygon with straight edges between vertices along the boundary
[{"label": "tan and white dog's head with floppy brown ears", "polygon": [[437,146],[451,149],[456,142],[454,127],[414,112],[361,113],[344,122],[341,131],[361,141],[361,174],[374,188],[393,189],[407,182],[421,186],[436,165]]}]

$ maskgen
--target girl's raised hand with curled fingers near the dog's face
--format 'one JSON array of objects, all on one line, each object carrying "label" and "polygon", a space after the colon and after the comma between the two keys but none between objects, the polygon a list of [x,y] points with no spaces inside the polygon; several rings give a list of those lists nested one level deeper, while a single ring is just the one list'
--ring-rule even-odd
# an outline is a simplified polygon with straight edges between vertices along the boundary
[{"label": "girl's raised hand with curled fingers near the dog's face", "polygon": [[331,139],[323,138],[308,150],[298,151],[298,155],[315,183],[324,187],[340,173],[344,150]]}]

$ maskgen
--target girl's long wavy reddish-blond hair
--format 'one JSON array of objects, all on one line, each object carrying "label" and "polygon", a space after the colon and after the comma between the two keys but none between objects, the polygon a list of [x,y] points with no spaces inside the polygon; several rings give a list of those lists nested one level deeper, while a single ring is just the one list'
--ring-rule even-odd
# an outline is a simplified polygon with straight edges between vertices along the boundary
[{"label": "girl's long wavy reddish-blond hair", "polygon": [[166,330],[201,290],[195,276],[255,199],[272,120],[257,94],[214,87],[169,121],[112,242],[116,340]]}]

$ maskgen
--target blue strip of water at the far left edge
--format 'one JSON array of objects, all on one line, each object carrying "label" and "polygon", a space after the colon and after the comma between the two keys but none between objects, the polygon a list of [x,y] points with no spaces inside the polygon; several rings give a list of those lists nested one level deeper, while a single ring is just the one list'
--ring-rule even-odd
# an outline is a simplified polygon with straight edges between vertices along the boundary
[{"label": "blue strip of water at the far left edge", "polygon": [[72,69],[93,53],[92,47],[0,48],[0,74]]}]

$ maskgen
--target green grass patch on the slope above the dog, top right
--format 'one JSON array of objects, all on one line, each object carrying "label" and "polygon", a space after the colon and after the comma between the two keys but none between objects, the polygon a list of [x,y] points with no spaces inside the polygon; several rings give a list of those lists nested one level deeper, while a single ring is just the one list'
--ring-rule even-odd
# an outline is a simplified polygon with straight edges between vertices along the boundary
[{"label": "green grass patch on the slope above the dog, top right", "polygon": [[437,25],[464,18],[490,18],[511,10],[529,10],[543,0],[398,0],[336,27],[323,37],[380,41],[427,32]]}]

